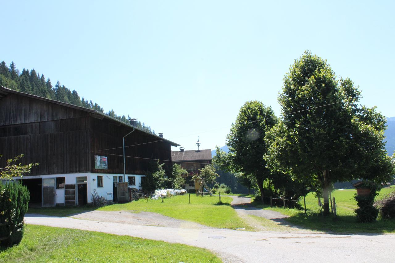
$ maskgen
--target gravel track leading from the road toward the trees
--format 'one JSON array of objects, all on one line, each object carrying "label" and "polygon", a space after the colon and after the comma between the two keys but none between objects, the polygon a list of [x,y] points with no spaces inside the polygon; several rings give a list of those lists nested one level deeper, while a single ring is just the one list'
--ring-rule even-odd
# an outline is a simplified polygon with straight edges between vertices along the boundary
[{"label": "gravel track leading from the road toward the trees", "polygon": [[231,205],[245,222],[254,227],[256,231],[278,231],[288,233],[318,233],[290,224],[284,218],[288,216],[280,212],[253,207],[250,197],[229,195],[233,198]]}]

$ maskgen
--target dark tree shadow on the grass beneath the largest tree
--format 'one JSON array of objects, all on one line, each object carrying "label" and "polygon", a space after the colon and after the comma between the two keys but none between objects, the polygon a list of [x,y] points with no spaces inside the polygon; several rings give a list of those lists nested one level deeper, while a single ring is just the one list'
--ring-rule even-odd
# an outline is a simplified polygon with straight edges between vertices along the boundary
[{"label": "dark tree shadow on the grass beneath the largest tree", "polygon": [[378,220],[373,223],[359,223],[355,216],[321,216],[320,214],[300,213],[288,218],[272,219],[279,225],[322,231],[330,234],[347,235],[383,235],[395,232],[395,222]]}]

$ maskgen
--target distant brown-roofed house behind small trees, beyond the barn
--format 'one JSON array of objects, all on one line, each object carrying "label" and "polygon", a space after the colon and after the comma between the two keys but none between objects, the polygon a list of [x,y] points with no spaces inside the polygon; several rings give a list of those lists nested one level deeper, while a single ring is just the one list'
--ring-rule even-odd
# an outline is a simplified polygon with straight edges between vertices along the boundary
[{"label": "distant brown-roofed house behind small trees, beyond the barn", "polygon": [[198,174],[199,169],[212,162],[211,150],[184,150],[180,147],[179,151],[171,152],[171,160],[188,171],[185,189],[195,189],[192,175]]}]

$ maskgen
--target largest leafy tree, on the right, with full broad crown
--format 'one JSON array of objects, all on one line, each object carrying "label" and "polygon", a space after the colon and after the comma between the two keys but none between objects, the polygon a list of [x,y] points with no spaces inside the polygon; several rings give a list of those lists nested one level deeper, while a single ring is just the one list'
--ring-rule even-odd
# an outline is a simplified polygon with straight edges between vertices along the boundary
[{"label": "largest leafy tree, on the right, with full broad crown", "polygon": [[278,97],[282,120],[267,134],[265,159],[272,170],[318,180],[324,213],[337,181],[389,180],[393,163],[384,148],[385,118],[358,104],[350,79],[336,79],[326,60],[306,51],[284,77]]}]

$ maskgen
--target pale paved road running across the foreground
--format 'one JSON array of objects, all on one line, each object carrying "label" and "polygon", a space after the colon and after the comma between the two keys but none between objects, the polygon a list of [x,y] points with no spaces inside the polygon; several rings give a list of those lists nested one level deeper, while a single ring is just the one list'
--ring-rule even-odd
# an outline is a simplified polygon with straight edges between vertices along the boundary
[{"label": "pale paved road running across the foreground", "polygon": [[[395,235],[182,229],[26,214],[27,224],[130,235],[207,248],[224,262],[393,262]],[[213,238],[224,237],[224,238]],[[204,262],[204,259],[201,259]]]}]

